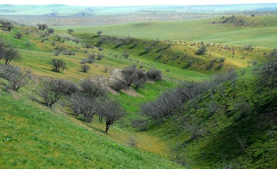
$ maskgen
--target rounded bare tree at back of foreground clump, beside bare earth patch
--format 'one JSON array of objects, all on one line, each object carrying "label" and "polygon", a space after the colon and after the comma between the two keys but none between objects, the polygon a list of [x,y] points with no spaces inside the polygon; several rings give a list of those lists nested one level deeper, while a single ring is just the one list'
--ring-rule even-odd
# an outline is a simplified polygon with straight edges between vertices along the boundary
[{"label": "rounded bare tree at back of foreground clump, beside bare earth patch", "polygon": [[98,97],[106,97],[106,92],[102,83],[97,80],[82,80],[80,86],[82,88],[82,92],[92,99],[96,99]]}]

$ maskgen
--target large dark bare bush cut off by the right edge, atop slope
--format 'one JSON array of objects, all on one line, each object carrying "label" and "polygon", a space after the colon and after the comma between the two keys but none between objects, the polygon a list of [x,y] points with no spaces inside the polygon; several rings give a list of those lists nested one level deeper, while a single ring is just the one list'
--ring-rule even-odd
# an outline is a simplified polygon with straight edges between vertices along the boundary
[{"label": "large dark bare bush cut off by the right edge, atop slope", "polygon": [[261,84],[277,87],[277,51],[273,51],[267,55],[266,61],[253,70],[258,76]]}]

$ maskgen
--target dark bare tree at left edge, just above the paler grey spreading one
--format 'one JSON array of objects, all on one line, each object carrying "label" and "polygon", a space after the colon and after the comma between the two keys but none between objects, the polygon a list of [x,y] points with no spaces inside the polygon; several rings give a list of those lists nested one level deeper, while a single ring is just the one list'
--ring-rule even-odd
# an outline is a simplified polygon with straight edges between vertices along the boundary
[{"label": "dark bare tree at left edge, just above the paler grey spreading one", "polygon": [[19,55],[19,51],[14,48],[4,47],[4,45],[0,45],[0,60],[3,59],[5,64],[10,64],[10,61],[18,61],[21,59]]}]

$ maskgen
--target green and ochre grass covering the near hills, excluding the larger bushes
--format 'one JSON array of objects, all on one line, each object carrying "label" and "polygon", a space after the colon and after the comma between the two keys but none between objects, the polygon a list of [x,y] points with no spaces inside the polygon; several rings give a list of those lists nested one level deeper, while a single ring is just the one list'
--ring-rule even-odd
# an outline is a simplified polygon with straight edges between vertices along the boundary
[{"label": "green and ochre grass covering the near hills, excluding the larger bushes", "polygon": [[[220,19],[215,21],[220,22]],[[260,22],[255,21],[259,26]],[[264,28],[234,26],[231,31],[274,26],[273,22]],[[133,34],[120,37],[109,35],[104,29],[101,35],[95,34],[96,31],[82,33],[77,28],[73,28],[75,31],[71,34],[67,28],[54,29],[54,34],[48,34],[46,30],[33,27],[15,25],[10,31],[3,26],[0,28],[0,41],[6,47],[18,49],[22,57],[10,64],[32,71],[29,83],[17,91],[7,87],[7,80],[0,79],[0,127],[4,131],[0,133],[1,168],[182,168],[172,162],[167,153],[169,142],[177,141],[185,145],[185,155],[192,168],[222,166],[222,156],[227,162],[232,160],[234,168],[276,168],[277,90],[263,87],[265,84],[259,84],[252,74],[253,68],[258,67],[256,62],[263,63],[273,48],[264,44],[245,46],[206,40],[168,41],[157,40],[157,37],[151,40]],[[18,32],[22,37],[15,36]],[[70,40],[58,40],[59,36],[70,37]],[[80,42],[76,43],[78,40]],[[86,44],[93,47],[86,48]],[[207,51],[196,55],[203,46]],[[55,50],[59,49],[61,53],[56,56]],[[75,54],[68,55],[66,51]],[[128,52],[128,58],[124,58],[124,52]],[[80,61],[91,54],[96,58],[98,54],[105,57],[87,64],[91,70],[84,73]],[[52,71],[49,65],[52,59],[64,60],[68,68],[58,73]],[[0,64],[4,64],[3,60]],[[153,68],[161,70],[162,80],[147,79],[145,86],[139,89],[131,85],[121,91],[114,90],[110,80],[132,64],[145,72]],[[107,68],[109,71],[105,72]],[[172,115],[159,119],[159,123],[144,117],[141,126],[133,124],[134,119],[140,117],[141,104],[155,101],[164,91],[180,86],[183,80],[208,84],[205,80],[211,75],[226,73],[228,68],[236,70],[237,80],[222,81],[215,91],[205,91],[196,105],[185,102]],[[106,133],[106,125],[98,121],[97,115],[90,123],[74,116],[67,99],[59,100],[52,108],[47,107],[38,89],[49,77],[68,79],[78,86],[81,79],[97,78],[106,87],[108,96],[122,103],[127,113],[124,125],[115,124]],[[218,108],[212,114],[208,108],[210,102]],[[236,108],[238,103],[244,102],[251,108],[245,114]],[[201,124],[197,126],[203,130],[201,135],[190,139],[188,131],[180,128],[179,121],[184,119]],[[243,150],[236,134],[246,138]],[[136,147],[127,144],[129,135],[138,138]]]}]

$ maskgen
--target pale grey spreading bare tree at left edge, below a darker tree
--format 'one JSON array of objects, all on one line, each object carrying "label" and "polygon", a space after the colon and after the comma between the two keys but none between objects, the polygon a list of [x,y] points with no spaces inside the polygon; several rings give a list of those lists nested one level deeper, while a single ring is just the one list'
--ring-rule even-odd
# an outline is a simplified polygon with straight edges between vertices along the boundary
[{"label": "pale grey spreading bare tree at left edge, below a darker tree", "polygon": [[2,65],[0,67],[0,77],[6,79],[13,90],[18,90],[29,82],[31,70],[19,66]]}]

